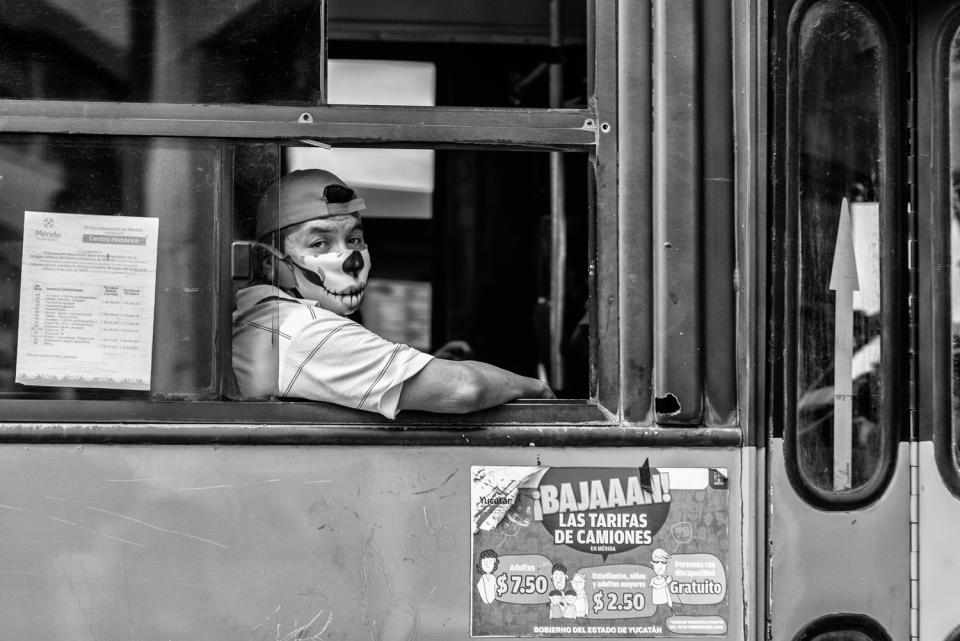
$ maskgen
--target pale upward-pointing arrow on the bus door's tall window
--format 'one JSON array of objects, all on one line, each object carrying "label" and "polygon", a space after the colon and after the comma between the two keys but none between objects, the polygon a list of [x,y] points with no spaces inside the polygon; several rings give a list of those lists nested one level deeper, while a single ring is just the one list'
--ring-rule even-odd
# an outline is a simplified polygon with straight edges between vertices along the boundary
[{"label": "pale upward-pointing arrow on the bus door's tall window", "polygon": [[853,292],[860,289],[850,205],[840,204],[830,289],[836,292],[833,339],[833,489],[850,489],[853,456]]}]

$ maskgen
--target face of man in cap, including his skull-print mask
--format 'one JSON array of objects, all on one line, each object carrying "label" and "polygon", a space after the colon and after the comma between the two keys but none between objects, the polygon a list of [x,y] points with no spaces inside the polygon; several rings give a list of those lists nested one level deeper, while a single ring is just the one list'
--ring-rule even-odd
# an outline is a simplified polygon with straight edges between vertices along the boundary
[{"label": "face of man in cap, including his skull-print mask", "polygon": [[297,225],[285,235],[282,249],[304,268],[297,278],[301,293],[324,309],[345,315],[356,311],[367,286],[366,248],[360,217],[343,214]]}]

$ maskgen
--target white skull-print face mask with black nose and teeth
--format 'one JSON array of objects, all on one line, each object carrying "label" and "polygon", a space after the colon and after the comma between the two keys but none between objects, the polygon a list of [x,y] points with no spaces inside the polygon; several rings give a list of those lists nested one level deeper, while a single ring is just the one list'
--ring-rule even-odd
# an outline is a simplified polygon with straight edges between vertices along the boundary
[{"label": "white skull-print face mask with black nose and teeth", "polygon": [[344,250],[319,256],[288,256],[297,289],[304,298],[341,315],[360,306],[370,274],[369,250]]}]

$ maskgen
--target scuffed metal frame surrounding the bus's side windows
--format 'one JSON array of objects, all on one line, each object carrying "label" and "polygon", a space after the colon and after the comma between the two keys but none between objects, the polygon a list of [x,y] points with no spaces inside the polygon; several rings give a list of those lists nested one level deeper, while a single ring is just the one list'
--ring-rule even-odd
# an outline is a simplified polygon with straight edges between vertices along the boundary
[{"label": "scuffed metal frame surrounding the bus's side windows", "polygon": [[[46,401],[0,400],[3,438],[49,438],[44,425],[66,422],[71,433],[113,440],[127,438],[123,430],[146,423],[203,424],[211,428],[244,423],[298,426],[426,426],[439,425],[570,425],[612,426],[620,415],[617,242],[617,8],[613,3],[587,3],[590,106],[585,109],[513,109],[478,107],[390,107],[336,105],[316,107],[264,105],[189,105],[166,103],[107,103],[87,101],[0,100],[0,133],[74,134],[127,137],[198,137],[221,140],[256,139],[279,144],[317,141],[327,144],[430,148],[495,148],[539,151],[578,151],[590,156],[594,194],[595,244],[590,256],[591,386],[587,401],[517,402],[467,416],[405,412],[395,421],[326,404],[221,401]],[[223,154],[227,157],[229,154]],[[224,167],[220,185],[220,341],[230,336],[229,261],[232,215],[232,168]],[[604,301],[605,304],[599,304]],[[598,328],[602,328],[598,329]],[[218,343],[216,383],[225,390],[229,346]],[[93,432],[91,425],[98,424]],[[111,427],[112,426],[112,427]],[[120,429],[117,429],[117,428]],[[92,428],[91,428],[92,429]],[[169,435],[159,431],[150,438]],[[206,434],[211,432],[201,430]],[[689,436],[699,430],[685,430]],[[147,432],[150,432],[147,428]],[[184,434],[184,432],[179,432]],[[249,433],[249,432],[246,432]],[[619,433],[619,430],[618,430]],[[721,430],[720,441],[739,442],[739,429]],[[133,430],[131,435],[144,431]],[[591,432],[594,434],[594,432]],[[622,437],[622,434],[619,434]],[[61,431],[62,436],[62,431]],[[179,438],[179,437],[177,437]],[[243,439],[234,430],[234,437]],[[274,438],[284,438],[277,434]],[[297,437],[309,439],[302,434]],[[682,440],[687,440],[683,438]],[[218,442],[223,439],[218,438]],[[599,442],[591,439],[592,442]]]}]

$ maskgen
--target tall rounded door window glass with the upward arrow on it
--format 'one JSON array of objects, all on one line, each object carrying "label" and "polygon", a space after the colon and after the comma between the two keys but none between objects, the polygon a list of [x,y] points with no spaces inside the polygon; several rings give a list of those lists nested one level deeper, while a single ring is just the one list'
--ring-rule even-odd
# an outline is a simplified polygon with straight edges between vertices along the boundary
[{"label": "tall rounded door window glass with the upward arrow on it", "polygon": [[852,2],[827,0],[802,17],[796,79],[796,318],[800,474],[827,491],[878,471],[885,202],[878,28]]}]

